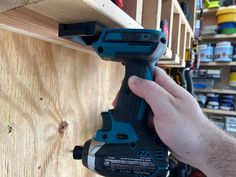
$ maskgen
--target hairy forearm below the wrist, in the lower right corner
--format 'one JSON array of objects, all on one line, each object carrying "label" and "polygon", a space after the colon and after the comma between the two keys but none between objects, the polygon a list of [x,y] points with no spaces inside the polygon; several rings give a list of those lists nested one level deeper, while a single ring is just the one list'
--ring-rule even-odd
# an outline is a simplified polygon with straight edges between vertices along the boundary
[{"label": "hairy forearm below the wrist, in the lower right corner", "polygon": [[201,170],[208,177],[235,177],[236,139],[212,125],[207,131],[206,142],[203,142],[205,159]]}]

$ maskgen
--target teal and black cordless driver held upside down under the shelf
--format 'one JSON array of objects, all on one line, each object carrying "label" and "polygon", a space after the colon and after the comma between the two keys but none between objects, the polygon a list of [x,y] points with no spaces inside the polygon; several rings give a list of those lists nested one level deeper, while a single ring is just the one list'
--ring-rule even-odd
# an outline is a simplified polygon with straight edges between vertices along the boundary
[{"label": "teal and black cordless driver held upside down under the shelf", "polygon": [[132,75],[153,80],[154,66],[166,50],[164,33],[151,29],[104,28],[96,22],[60,24],[59,36],[91,45],[104,60],[122,62],[125,77],[117,106],[102,112],[102,128],[74,159],[107,177],[166,177],[168,149],[147,126],[150,108],[128,87]]}]

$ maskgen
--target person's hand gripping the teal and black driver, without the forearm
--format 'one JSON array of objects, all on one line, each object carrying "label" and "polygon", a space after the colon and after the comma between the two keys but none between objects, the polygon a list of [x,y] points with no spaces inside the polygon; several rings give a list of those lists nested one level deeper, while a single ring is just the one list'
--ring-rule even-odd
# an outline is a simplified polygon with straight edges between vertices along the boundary
[{"label": "person's hand gripping the teal and black driver, without the forearm", "polygon": [[155,81],[132,76],[128,85],[134,94],[150,105],[155,130],[173,155],[180,161],[200,167],[205,160],[201,152],[205,150],[207,130],[212,126],[193,96],[157,67]]}]

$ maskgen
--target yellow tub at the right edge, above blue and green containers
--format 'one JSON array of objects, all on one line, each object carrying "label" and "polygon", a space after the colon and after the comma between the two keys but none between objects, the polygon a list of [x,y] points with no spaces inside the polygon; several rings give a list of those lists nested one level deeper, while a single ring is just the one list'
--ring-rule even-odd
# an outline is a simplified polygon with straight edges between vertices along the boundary
[{"label": "yellow tub at the right edge, above blue and green containers", "polygon": [[236,22],[236,6],[222,7],[216,13],[217,23]]}]

